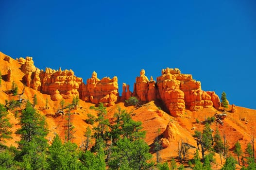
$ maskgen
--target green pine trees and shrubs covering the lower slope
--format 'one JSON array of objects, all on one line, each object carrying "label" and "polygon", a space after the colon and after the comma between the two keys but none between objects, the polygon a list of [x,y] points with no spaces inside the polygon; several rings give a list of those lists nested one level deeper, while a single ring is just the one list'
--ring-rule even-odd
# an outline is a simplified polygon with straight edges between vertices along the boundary
[{"label": "green pine trees and shrubs covering the lower slope", "polygon": [[[35,98],[34,95],[33,99]],[[15,103],[6,101],[5,105],[0,104],[0,142],[11,137],[12,126],[7,118],[7,109],[15,108]],[[175,162],[178,157],[161,162],[161,134],[160,130],[155,132],[157,137],[151,145],[151,152],[156,153],[157,164],[154,165],[150,147],[144,140],[146,132],[142,130],[142,123],[133,120],[133,113],[128,113],[120,107],[110,120],[107,119],[107,109],[103,103],[91,107],[97,112],[97,116],[87,114],[88,119],[85,122],[93,126],[87,126],[85,129],[80,147],[72,143],[72,104],[68,104],[66,141],[63,143],[61,136],[55,135],[50,146],[50,140],[46,139],[49,130],[45,117],[34,108],[35,103],[34,100],[33,104],[28,101],[25,108],[19,111],[17,119],[20,128],[16,131],[16,134],[20,135],[18,147],[6,147],[1,143],[0,170],[184,170],[185,164],[186,168],[192,170],[211,170],[211,163],[215,162],[214,152],[220,154],[221,161],[222,156],[226,159],[223,161],[225,164],[222,170],[234,170],[237,163],[235,158],[227,156],[228,145],[225,136],[223,141],[218,129],[213,134],[209,123],[214,120],[208,117],[203,131],[195,131],[193,135],[198,147],[193,159],[188,160],[186,156],[190,148],[188,141],[181,140],[179,143],[180,166]],[[64,107],[64,104],[62,100],[60,105]],[[232,148],[238,156],[238,164],[242,157],[241,170],[256,170],[253,140],[248,143],[244,153],[239,142]],[[187,167],[188,165],[190,167]]]}]

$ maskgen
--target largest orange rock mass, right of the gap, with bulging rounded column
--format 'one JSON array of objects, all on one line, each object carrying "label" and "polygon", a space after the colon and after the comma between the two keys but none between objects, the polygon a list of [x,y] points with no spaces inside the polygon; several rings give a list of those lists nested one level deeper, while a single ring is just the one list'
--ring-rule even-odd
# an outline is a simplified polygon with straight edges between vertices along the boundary
[{"label": "largest orange rock mass, right of the gap, with bulging rounded column", "polygon": [[149,81],[145,70],[141,70],[133,96],[144,102],[160,99],[174,117],[181,117],[186,108],[197,111],[205,107],[220,107],[220,99],[214,92],[203,91],[201,82],[193,80],[191,74],[182,74],[178,68],[162,69],[156,83],[153,78]]}]

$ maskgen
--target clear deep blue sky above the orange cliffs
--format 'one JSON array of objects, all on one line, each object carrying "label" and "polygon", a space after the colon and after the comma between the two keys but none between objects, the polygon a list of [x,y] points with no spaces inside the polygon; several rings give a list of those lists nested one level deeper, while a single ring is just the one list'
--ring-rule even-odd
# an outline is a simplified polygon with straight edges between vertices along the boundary
[{"label": "clear deep blue sky above the orange cliffs", "polygon": [[118,76],[133,87],[179,68],[256,109],[255,0],[1,0],[0,51],[37,68],[72,69],[84,82]]}]

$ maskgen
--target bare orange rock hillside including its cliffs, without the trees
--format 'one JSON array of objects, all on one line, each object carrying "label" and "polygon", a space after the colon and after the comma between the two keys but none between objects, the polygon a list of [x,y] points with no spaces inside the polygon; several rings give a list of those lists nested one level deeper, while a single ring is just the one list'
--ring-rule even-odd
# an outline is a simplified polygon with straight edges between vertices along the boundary
[{"label": "bare orange rock hillside including its cliffs, without the trees", "polygon": [[[91,78],[84,83],[72,70],[40,70],[34,66],[32,57],[14,60],[0,52],[0,72],[0,103],[20,99],[33,101],[33,96],[36,95],[38,103],[35,108],[46,116],[48,123],[49,144],[55,134],[65,140],[68,111],[64,110],[63,115],[56,114],[61,108],[60,101],[64,99],[64,105],[67,106],[74,96],[79,96],[79,106],[71,110],[71,122],[76,130],[72,141],[78,146],[85,140],[85,129],[88,126],[93,127],[85,122],[85,119],[88,119],[87,114],[97,116],[97,112],[90,109],[90,106],[103,102],[108,106],[107,118],[110,122],[118,108],[127,110],[128,113],[132,113],[132,119],[142,122],[143,130],[147,132],[145,141],[151,147],[154,158],[154,141],[159,137],[163,146],[159,152],[162,162],[176,158],[179,142],[186,141],[191,146],[184,162],[186,164],[197,148],[196,140],[192,137],[195,130],[203,130],[202,122],[207,117],[217,118],[223,113],[220,99],[214,92],[203,91],[199,81],[193,80],[190,74],[182,74],[177,68],[163,69],[156,81],[152,77],[149,80],[145,70],[141,70],[140,76],[136,78],[134,92],[129,90],[129,85],[123,83],[121,96],[117,77],[104,77],[100,80],[97,73],[93,72]],[[12,82],[17,84],[17,96],[7,93],[12,88]],[[123,101],[131,96],[142,101],[141,107],[126,106]],[[24,107],[25,104],[22,104],[17,110],[8,110],[10,122],[13,124],[13,139],[5,143],[8,146],[17,146],[19,136],[15,131],[19,128],[19,119],[15,115],[16,111],[20,113]],[[170,113],[161,108],[167,108]],[[220,134],[226,136],[230,153],[234,156],[235,143],[239,141],[245,152],[246,145],[256,136],[255,127],[256,110],[235,105],[229,105],[221,121],[216,119],[211,124],[213,135],[218,128]],[[221,163],[218,153],[215,154],[215,158],[216,164],[212,169],[220,170],[224,160]]]}]

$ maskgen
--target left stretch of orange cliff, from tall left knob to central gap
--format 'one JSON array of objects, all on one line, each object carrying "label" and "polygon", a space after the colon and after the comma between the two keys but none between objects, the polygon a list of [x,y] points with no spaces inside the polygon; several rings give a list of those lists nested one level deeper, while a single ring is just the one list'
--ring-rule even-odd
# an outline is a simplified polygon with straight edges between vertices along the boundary
[{"label": "left stretch of orange cliff, from tall left knob to central gap", "polygon": [[35,68],[32,57],[19,58],[21,70],[25,74],[23,82],[27,86],[42,93],[50,94],[51,100],[70,99],[79,96],[86,102],[103,102],[111,105],[119,98],[118,78],[113,79],[104,77],[102,80],[97,78],[97,73],[93,72],[92,77],[87,79],[87,84],[82,78],[76,77],[70,70],[62,71],[46,68],[45,71]]}]

